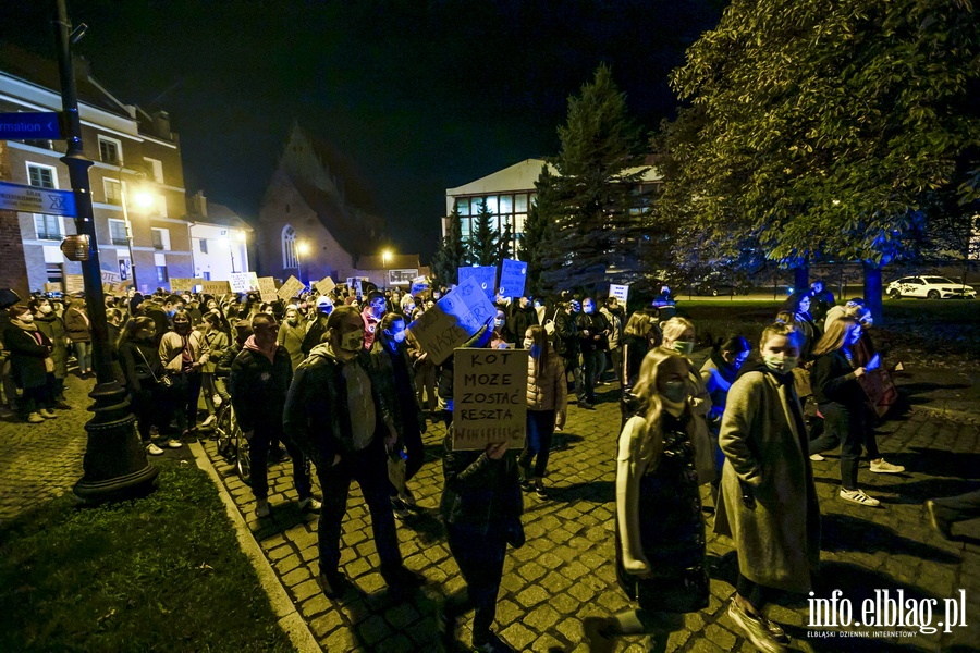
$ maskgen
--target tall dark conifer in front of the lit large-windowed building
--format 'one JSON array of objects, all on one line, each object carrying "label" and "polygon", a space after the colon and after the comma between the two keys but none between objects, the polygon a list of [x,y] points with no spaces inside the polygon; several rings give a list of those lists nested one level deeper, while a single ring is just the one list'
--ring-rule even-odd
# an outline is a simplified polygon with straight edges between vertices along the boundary
[{"label": "tall dark conifer in front of the lit large-windowed building", "polygon": [[[599,289],[636,269],[636,245],[646,211],[638,197],[645,169],[642,138],[605,65],[559,127],[554,167],[554,237],[543,252],[542,280],[550,288]],[[540,210],[540,207],[539,207]]]}]

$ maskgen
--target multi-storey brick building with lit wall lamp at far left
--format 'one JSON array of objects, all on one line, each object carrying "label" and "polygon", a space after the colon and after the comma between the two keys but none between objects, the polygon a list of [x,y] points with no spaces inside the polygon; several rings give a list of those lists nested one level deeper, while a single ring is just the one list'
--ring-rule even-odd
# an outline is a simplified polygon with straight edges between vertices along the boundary
[{"label": "multi-storey brick building with lit wall lamp at far left", "polygon": [[[83,59],[74,64],[102,269],[130,279],[135,264],[144,292],[194,276],[181,146],[167,112],[123,103]],[[0,45],[0,112],[61,111],[60,88],[53,59]],[[0,141],[0,181],[70,190],[64,151],[64,140]],[[74,233],[71,218],[0,211],[0,287],[25,296],[81,274],[59,249]]]}]

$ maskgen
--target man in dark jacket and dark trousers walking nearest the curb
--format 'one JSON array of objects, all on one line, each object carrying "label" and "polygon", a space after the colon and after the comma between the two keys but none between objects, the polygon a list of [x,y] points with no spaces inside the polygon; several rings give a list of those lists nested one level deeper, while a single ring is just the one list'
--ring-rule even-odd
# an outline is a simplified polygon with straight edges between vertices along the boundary
[{"label": "man in dark jacket and dark trousers walking nearest the curb", "polygon": [[290,354],[275,343],[279,324],[268,313],[252,318],[250,335],[232,362],[229,392],[235,407],[235,418],[252,446],[252,492],[255,494],[255,514],[269,515],[269,483],[266,477],[269,448],[273,441],[282,440],[293,458],[293,482],[299,495],[299,507],[319,509],[309,480],[309,464],[299,451],[283,438],[282,411],[293,366]]}]

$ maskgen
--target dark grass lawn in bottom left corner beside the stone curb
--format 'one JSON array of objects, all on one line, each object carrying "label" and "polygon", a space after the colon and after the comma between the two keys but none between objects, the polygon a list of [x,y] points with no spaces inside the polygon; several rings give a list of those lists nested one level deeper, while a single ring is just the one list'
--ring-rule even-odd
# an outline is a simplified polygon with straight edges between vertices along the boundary
[{"label": "dark grass lawn in bottom left corner beside the stone curb", "polygon": [[62,496],[0,528],[0,651],[292,650],[213,483],[157,464],[145,498]]}]

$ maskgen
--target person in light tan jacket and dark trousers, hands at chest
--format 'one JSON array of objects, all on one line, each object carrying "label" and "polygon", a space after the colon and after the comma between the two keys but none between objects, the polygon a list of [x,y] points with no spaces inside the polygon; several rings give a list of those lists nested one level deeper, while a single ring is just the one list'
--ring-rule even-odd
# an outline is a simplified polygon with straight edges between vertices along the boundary
[{"label": "person in light tan jacket and dark trousers, hands at chest", "polygon": [[183,438],[187,438],[197,427],[200,370],[209,358],[207,340],[200,331],[191,328],[187,311],[177,310],[173,313],[173,329],[160,340],[159,355],[163,372],[171,380],[168,394],[172,417],[177,431]]}]

